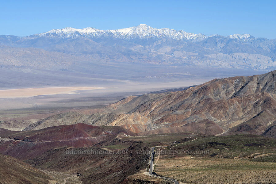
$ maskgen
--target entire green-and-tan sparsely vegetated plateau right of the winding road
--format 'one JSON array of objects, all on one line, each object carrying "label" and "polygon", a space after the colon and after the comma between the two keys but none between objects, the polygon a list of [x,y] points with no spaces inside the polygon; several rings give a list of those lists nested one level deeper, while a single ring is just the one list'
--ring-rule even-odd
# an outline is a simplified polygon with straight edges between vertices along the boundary
[{"label": "entire green-and-tan sparsely vegetated plateau right of the winding road", "polygon": [[[193,140],[193,137],[186,137],[174,140],[176,144],[160,147],[164,154],[161,151],[158,159],[155,154],[155,173],[189,184],[255,184],[276,181],[275,139],[250,134],[196,138]],[[181,149],[209,150],[209,153],[168,155],[165,152]],[[140,178],[146,177],[140,175]]]}]

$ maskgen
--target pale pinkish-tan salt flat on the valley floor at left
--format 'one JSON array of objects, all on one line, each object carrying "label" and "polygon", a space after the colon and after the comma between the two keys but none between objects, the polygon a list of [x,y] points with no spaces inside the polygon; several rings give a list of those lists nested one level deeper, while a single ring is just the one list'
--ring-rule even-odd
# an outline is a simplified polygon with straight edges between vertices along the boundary
[{"label": "pale pinkish-tan salt flat on the valley floor at left", "polygon": [[104,87],[41,87],[0,90],[0,98],[23,98],[50,94],[76,94],[81,90],[107,89]]}]

